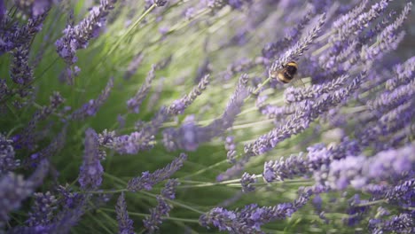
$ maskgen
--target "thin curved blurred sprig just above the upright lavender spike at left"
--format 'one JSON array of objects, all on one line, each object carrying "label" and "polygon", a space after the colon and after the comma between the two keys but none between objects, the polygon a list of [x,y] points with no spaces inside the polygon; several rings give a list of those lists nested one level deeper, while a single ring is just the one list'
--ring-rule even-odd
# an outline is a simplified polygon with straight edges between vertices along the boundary
[{"label": "thin curved blurred sprig just above the upright lavender spike at left", "polygon": [[106,83],[106,88],[102,90],[101,94],[96,99],[90,99],[88,103],[82,105],[81,108],[75,110],[68,116],[69,120],[82,121],[89,116],[94,116],[101,105],[104,105],[106,99],[109,97],[114,86],[114,78],[110,78]]}]

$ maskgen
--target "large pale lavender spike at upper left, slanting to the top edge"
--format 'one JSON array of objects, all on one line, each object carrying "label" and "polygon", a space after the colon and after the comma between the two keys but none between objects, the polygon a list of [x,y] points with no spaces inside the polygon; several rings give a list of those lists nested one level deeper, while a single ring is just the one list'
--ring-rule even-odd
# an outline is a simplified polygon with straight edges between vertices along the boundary
[{"label": "large pale lavender spike at upper left, slanting to the top edge", "polygon": [[90,14],[75,26],[68,25],[64,35],[56,43],[56,51],[71,66],[77,61],[76,51],[85,49],[90,39],[97,37],[101,27],[105,26],[106,16],[114,8],[116,0],[101,0],[92,7]]}]

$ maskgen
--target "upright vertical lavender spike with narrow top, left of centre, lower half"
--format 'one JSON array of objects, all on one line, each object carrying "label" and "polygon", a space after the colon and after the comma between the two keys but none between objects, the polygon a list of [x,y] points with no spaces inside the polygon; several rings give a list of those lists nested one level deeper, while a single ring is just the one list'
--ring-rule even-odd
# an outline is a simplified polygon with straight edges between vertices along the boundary
[{"label": "upright vertical lavender spike with narrow top, left of centre, lower half", "polygon": [[81,188],[96,190],[102,183],[102,168],[99,161],[98,135],[93,129],[85,131],[85,154],[80,168],[79,183]]}]

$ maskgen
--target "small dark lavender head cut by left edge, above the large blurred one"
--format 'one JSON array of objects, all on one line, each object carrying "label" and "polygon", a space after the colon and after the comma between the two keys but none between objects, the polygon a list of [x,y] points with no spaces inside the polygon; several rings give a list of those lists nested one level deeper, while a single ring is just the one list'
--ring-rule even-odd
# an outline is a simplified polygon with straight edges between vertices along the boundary
[{"label": "small dark lavender head cut by left edge, above the large blurred one", "polygon": [[12,139],[0,133],[0,175],[20,166],[20,160],[15,158]]}]

